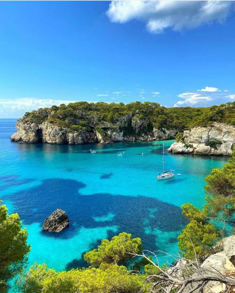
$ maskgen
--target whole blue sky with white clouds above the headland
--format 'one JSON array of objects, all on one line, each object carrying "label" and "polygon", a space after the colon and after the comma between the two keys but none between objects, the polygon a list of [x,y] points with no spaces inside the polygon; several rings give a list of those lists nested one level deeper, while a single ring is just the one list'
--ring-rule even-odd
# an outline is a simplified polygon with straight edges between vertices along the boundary
[{"label": "whole blue sky with white clouds above the headland", "polygon": [[78,100],[234,101],[234,32],[229,1],[0,2],[0,118]]}]

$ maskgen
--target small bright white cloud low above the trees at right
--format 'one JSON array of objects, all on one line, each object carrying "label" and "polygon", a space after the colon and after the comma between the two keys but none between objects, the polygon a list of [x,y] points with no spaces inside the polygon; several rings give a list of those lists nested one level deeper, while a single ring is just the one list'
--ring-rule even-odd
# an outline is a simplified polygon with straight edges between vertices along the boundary
[{"label": "small bright white cloud low above the trees at right", "polygon": [[181,93],[178,97],[183,98],[184,100],[175,103],[174,107],[195,106],[198,103],[212,100],[210,96],[204,96],[202,93]]}]

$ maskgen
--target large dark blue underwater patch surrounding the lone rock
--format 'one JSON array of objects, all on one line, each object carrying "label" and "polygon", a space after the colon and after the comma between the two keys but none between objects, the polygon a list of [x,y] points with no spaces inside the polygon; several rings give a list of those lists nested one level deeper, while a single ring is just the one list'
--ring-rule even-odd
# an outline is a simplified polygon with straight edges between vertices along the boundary
[{"label": "large dark blue underwater patch surrounding the lone rock", "polygon": [[[42,236],[68,239],[83,226],[96,228],[117,226],[118,231],[108,232],[110,239],[120,232],[132,233],[140,237],[146,249],[156,250],[156,236],[145,234],[143,221],[148,218],[151,229],[161,231],[178,231],[187,224],[182,210],[167,202],[145,196],[123,196],[110,193],[82,195],[80,189],[86,185],[70,179],[47,179],[31,189],[20,191],[6,199],[14,202],[15,211],[19,213],[24,224],[40,223],[55,209],[63,209],[69,217],[69,226],[60,233],[41,231]],[[35,207],[38,209],[35,210]],[[150,218],[150,209],[156,209]],[[112,224],[95,222],[93,217],[102,217],[108,213],[115,214]],[[91,248],[92,249],[92,248]]]}]

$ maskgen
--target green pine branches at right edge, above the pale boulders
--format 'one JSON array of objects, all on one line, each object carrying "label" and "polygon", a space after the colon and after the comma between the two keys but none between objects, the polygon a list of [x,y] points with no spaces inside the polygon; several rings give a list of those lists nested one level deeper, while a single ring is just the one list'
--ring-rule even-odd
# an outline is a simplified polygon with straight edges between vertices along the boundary
[{"label": "green pine branches at right edge, above the pale boulders", "polygon": [[182,213],[190,222],[178,237],[179,248],[191,259],[195,252],[202,260],[213,253],[216,240],[224,235],[225,224],[235,224],[235,153],[223,168],[213,169],[205,180],[203,209],[189,203],[182,205]]}]

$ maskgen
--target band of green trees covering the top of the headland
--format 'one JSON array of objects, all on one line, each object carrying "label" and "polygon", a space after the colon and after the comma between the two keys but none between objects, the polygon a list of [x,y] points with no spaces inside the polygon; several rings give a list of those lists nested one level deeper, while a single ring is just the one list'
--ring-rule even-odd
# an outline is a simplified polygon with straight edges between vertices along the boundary
[{"label": "band of green trees covering the top of the headland", "polygon": [[[26,112],[23,119],[36,123],[48,121],[74,131],[89,130],[91,125],[105,127],[105,122],[115,125],[123,115],[127,114],[148,120],[146,131],[153,129],[153,127],[176,128],[182,131],[194,126],[208,125],[215,121],[234,125],[235,102],[220,106],[214,105],[209,108],[166,108],[158,103],[138,101],[129,104],[76,102]],[[120,127],[122,126],[120,125]],[[128,127],[130,128],[131,125]]]}]

